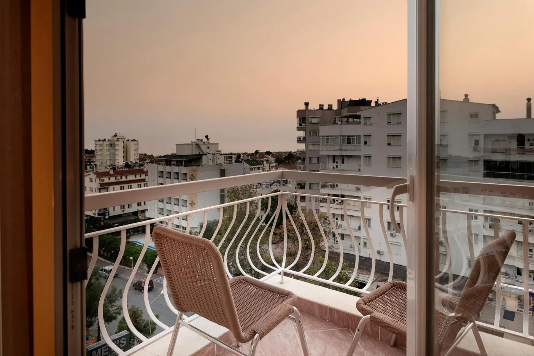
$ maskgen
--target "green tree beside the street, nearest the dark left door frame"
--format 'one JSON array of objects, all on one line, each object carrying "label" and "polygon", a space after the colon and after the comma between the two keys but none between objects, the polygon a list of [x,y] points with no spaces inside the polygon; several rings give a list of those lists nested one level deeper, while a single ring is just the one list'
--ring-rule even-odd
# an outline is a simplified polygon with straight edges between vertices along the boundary
[{"label": "green tree beside the street, nearest the dark left door frame", "polygon": [[[85,327],[97,325],[97,341],[100,341],[100,323],[98,322],[98,302],[104,291],[104,282],[100,279],[98,270],[93,270],[91,278],[85,287]],[[121,291],[111,286],[104,299],[104,323],[116,320],[122,312],[122,306],[117,304],[122,297]]]}]

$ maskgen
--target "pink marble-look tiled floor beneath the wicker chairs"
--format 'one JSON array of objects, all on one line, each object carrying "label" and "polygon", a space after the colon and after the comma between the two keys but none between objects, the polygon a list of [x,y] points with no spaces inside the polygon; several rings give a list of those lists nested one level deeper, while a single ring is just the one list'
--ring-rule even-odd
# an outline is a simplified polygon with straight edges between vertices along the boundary
[{"label": "pink marble-look tiled floor beneath the wicker chairs", "polygon": [[[302,325],[308,342],[310,356],[333,356],[345,355],[349,348],[354,333],[351,330],[337,326],[329,321],[313,317],[312,315],[301,313]],[[406,350],[402,347],[391,347],[388,342],[375,339],[369,335],[370,330],[366,330],[358,343],[354,355],[392,355],[404,356]],[[235,341],[226,334],[223,341],[235,346]],[[178,346],[178,345],[177,345]],[[238,349],[248,353],[250,343],[242,344]],[[195,353],[195,356],[230,356],[231,352],[222,347],[210,344],[205,349]],[[258,356],[301,356],[302,350],[299,342],[299,335],[296,332],[295,322],[289,319],[283,321],[278,327],[265,336],[256,349]]]}]

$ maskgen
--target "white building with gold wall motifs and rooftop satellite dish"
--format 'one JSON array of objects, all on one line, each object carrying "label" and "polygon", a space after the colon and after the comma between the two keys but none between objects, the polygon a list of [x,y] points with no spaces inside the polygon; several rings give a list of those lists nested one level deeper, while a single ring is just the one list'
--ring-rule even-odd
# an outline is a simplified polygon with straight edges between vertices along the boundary
[{"label": "white building with gold wall motifs and rooftop satellite dish", "polygon": [[[233,163],[234,155],[219,151],[218,143],[197,139],[187,144],[176,144],[176,154],[164,155],[147,163],[148,186],[183,183],[219,177],[238,176],[249,173],[246,163]],[[172,196],[148,202],[147,216],[161,218],[180,212],[210,207],[225,202],[224,189],[202,193]],[[208,211],[208,220],[218,219],[217,209]],[[203,222],[203,213],[191,215],[190,231],[197,232]],[[167,225],[162,221],[161,225]],[[187,220],[175,218],[172,228],[186,230]]]}]

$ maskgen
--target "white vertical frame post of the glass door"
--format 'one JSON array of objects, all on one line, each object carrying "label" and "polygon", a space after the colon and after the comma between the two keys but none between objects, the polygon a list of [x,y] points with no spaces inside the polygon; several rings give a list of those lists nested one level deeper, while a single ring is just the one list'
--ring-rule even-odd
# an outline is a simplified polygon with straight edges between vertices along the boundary
[{"label": "white vertical frame post of the glass door", "polygon": [[[412,201],[407,202],[407,354],[429,355],[434,348],[435,270],[433,237],[436,199],[436,19],[438,0],[408,0],[407,175]],[[439,113],[439,109],[437,109]]]}]

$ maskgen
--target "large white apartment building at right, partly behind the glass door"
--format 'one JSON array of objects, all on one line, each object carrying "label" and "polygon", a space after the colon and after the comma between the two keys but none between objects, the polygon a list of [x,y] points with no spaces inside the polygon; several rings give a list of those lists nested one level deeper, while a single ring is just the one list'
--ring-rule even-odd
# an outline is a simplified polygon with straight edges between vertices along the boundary
[{"label": "large white apartment building at right, partly behind the glass door", "polygon": [[[321,172],[352,173],[365,176],[406,177],[406,100],[390,102],[360,109],[354,113],[335,115],[331,124],[318,126],[319,150],[308,148],[302,152],[305,168],[309,162],[319,162]],[[499,108],[494,104],[464,100],[441,100],[439,114],[439,171],[445,180],[488,180],[494,183],[522,185],[534,184],[534,121],[532,118],[497,119]],[[299,112],[297,112],[297,116]],[[307,122],[306,124],[307,125]],[[308,130],[308,126],[305,126]],[[307,131],[308,132],[308,131]],[[315,137],[315,135],[314,135]],[[305,137],[307,140],[308,135]],[[308,146],[309,144],[307,144]],[[314,167],[315,168],[315,167]],[[467,178],[468,177],[468,178]],[[321,195],[331,196],[330,212],[339,226],[344,253],[370,257],[372,251],[362,224],[366,224],[376,256],[389,262],[386,241],[380,223],[379,206],[366,204],[362,217],[358,204],[348,204],[347,215],[357,246],[350,239],[343,214],[343,206],[335,197],[355,198],[389,202],[391,189],[327,182],[309,183],[309,188],[319,188]],[[317,194],[311,192],[311,194]],[[406,203],[400,195],[397,203]],[[517,198],[493,198],[482,195],[441,193],[442,208],[469,211],[474,214],[492,213],[505,216],[534,217],[534,202]],[[311,200],[301,202],[302,206]],[[316,208],[327,212],[326,202],[317,199]],[[383,208],[386,236],[391,246],[393,262],[406,265],[402,236],[395,233],[389,217],[389,208]],[[398,219],[398,212],[396,217]],[[470,263],[465,215],[447,213],[447,238],[450,242],[449,256],[452,257],[453,274],[468,274]],[[399,223],[394,221],[393,223]],[[474,254],[478,255],[483,244],[493,240],[491,218],[472,217],[471,221]],[[515,284],[522,285],[523,243],[529,243],[529,279],[534,287],[534,226],[530,227],[530,242],[523,241],[522,225],[516,220],[500,221],[500,230],[516,231],[517,238],[503,270]],[[443,239],[443,236],[442,236]],[[331,248],[339,251],[339,244],[331,239]],[[467,253],[466,253],[467,251]],[[440,262],[444,267],[447,252],[442,241]],[[463,260],[466,259],[466,260]],[[516,281],[517,279],[517,281]],[[510,281],[510,282],[511,282]]]}]

